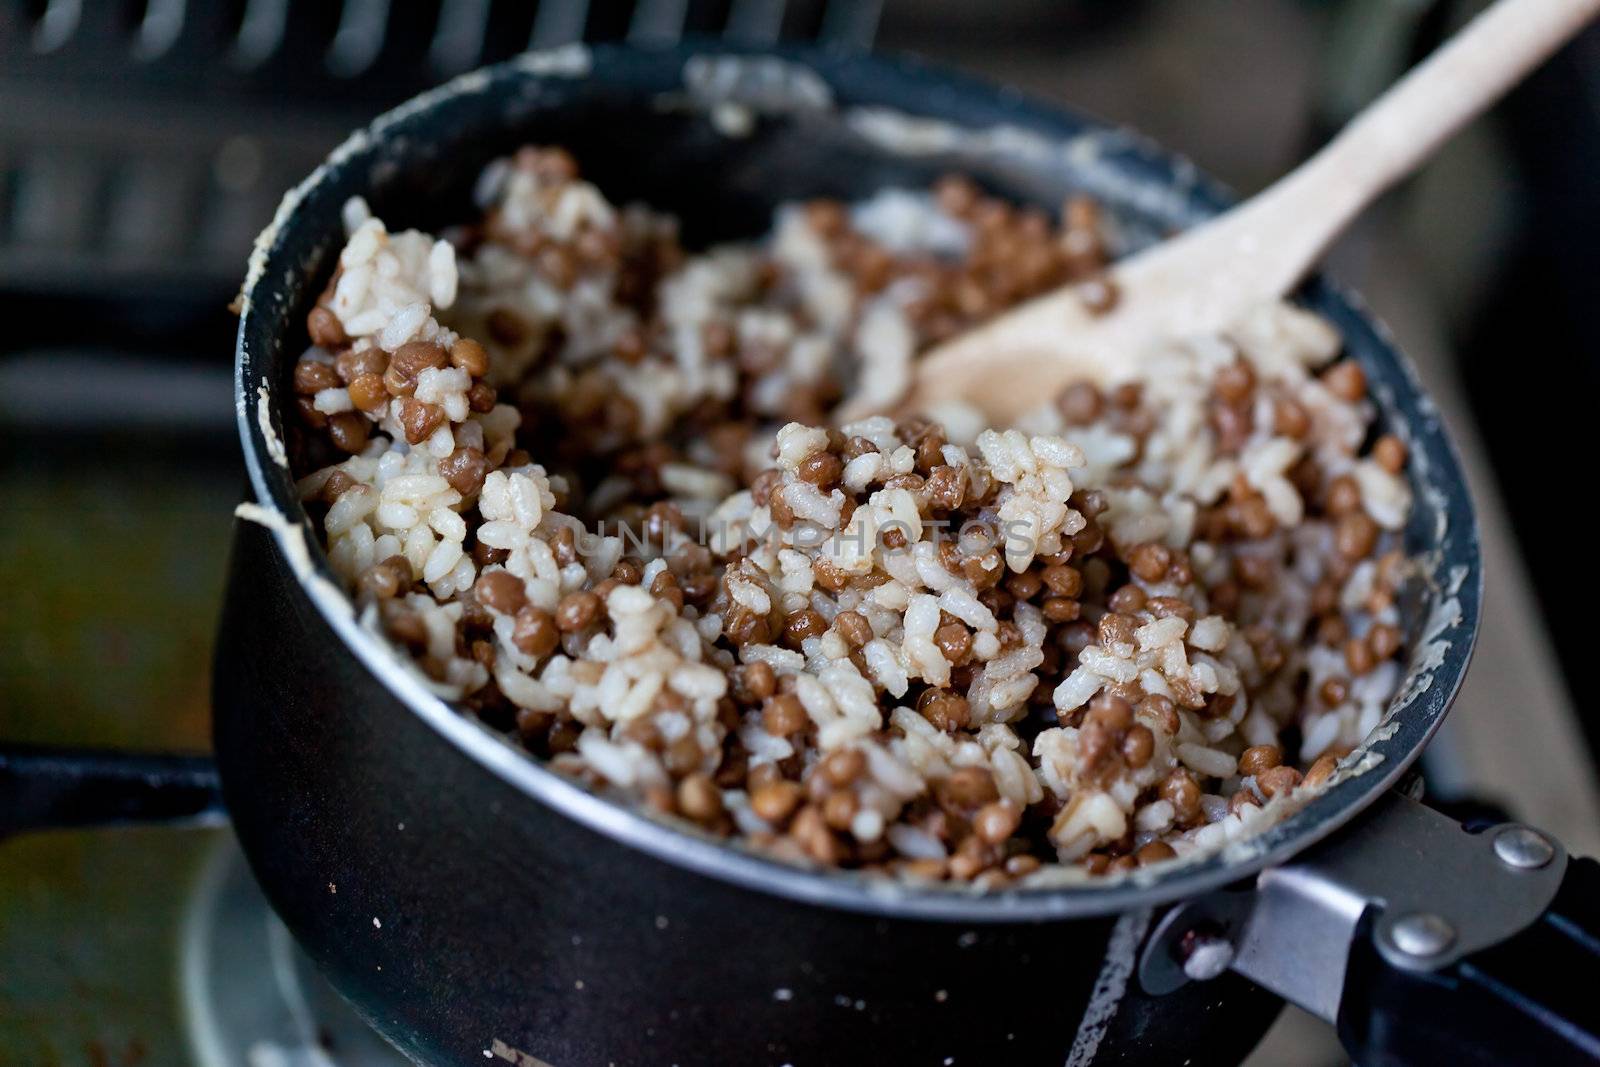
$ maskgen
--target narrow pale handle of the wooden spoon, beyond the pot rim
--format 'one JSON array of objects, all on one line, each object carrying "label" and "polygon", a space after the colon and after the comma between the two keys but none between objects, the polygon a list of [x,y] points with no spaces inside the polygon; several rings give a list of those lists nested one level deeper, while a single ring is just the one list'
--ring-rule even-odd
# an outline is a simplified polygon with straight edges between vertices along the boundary
[{"label": "narrow pale handle of the wooden spoon, beyond the pot rim", "polygon": [[[1317,155],[1238,214],[1269,222],[1298,264],[1288,293],[1360,211],[1578,35],[1600,0],[1496,0],[1395,82]],[[1298,230],[1298,234],[1296,234]]]}]

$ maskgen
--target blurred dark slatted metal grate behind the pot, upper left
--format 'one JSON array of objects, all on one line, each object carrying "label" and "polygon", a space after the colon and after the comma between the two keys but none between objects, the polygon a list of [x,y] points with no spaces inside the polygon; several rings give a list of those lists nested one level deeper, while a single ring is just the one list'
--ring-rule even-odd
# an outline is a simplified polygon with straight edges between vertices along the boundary
[{"label": "blurred dark slatted metal grate behind the pot, upper left", "polygon": [[226,299],[349,128],[530,48],[872,42],[878,0],[0,0],[0,296]]}]

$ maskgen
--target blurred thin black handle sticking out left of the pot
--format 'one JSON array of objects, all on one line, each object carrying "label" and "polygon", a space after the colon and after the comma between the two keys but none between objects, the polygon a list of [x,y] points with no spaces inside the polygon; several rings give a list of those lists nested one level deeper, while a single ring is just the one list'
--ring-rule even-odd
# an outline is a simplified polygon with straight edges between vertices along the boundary
[{"label": "blurred thin black handle sticking out left of the pot", "polygon": [[221,822],[210,757],[0,747],[0,838],[128,822]]}]

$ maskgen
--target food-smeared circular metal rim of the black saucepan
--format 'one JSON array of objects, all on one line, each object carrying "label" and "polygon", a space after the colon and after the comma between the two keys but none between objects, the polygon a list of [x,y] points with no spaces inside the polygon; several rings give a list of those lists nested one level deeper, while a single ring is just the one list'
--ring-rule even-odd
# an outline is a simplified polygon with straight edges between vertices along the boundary
[{"label": "food-smeared circular metal rim of the black saucepan", "polygon": [[[1389,395],[1384,397],[1386,413],[1403,418],[1414,454],[1422,453],[1437,470],[1434,485],[1448,504],[1448,541],[1442,558],[1432,568],[1434,574],[1448,576],[1448,593],[1454,616],[1442,621],[1432,665],[1421,675],[1421,685],[1408,677],[1413,689],[1408,704],[1398,707],[1392,701],[1384,726],[1384,736],[1368,745],[1370,760],[1376,765],[1360,774],[1336,782],[1314,797],[1304,808],[1286,816],[1274,827],[1246,838],[1202,861],[1174,865],[1154,875],[1133,875],[1106,883],[1058,886],[1037,889],[1003,889],[978,893],[947,886],[910,886],[885,877],[869,877],[853,872],[822,872],[770,859],[742,846],[733,846],[710,838],[686,824],[650,817],[634,805],[589,792],[578,782],[549,769],[538,758],[515,749],[494,731],[467,718],[443,699],[435,696],[414,673],[402,665],[397,654],[373,632],[365,629],[354,603],[342,593],[328,566],[320,537],[310,528],[309,518],[294,493],[294,480],[286,467],[274,459],[282,454],[282,437],[272,429],[269,438],[264,426],[272,427],[274,411],[270,395],[266,398],[258,387],[277,387],[282,381],[269,381],[258,366],[272,360],[272,326],[262,326],[269,344],[258,350],[251,336],[256,322],[270,323],[277,280],[302,272],[304,264],[290,259],[285,238],[302,205],[318,195],[346,168],[371,163],[374,152],[390,138],[416,134],[418,123],[429,110],[453,98],[474,93],[493,93],[510,85],[571,77],[614,77],[630,70],[637,80],[637,62],[664,59],[677,70],[696,58],[742,58],[752,62],[795,64],[819,75],[832,91],[843,99],[840,107],[885,107],[877,98],[894,101],[894,109],[914,117],[942,118],[952,99],[981,101],[990,107],[1003,107],[1008,122],[1021,130],[1062,144],[1072,138],[1104,134],[1115,138],[1128,152],[1128,160],[1144,170],[1166,176],[1170,192],[1176,189],[1190,200],[1192,218],[1216,211],[1229,200],[1219,186],[1200,174],[1187,160],[1155,147],[1149,141],[1107,123],[1077,115],[1070,109],[1022,96],[1013,90],[992,86],[966,75],[931,67],[922,61],[882,56],[840,56],[814,48],[781,46],[750,48],[722,42],[686,43],[667,50],[637,50],[622,45],[566,46],[549,53],[530,53],[493,67],[462,75],[437,90],[424,93],[397,109],[386,112],[368,126],[352,134],[309,178],[291,189],[280,205],[272,224],[256,240],[250,261],[250,275],[242,290],[242,310],[235,347],[235,410],[245,466],[256,502],[267,512],[278,550],[290,561],[302,590],[317,609],[355,653],[376,680],[389,689],[406,709],[432,726],[445,741],[474,758],[491,774],[499,776],[530,798],[578,821],[579,824],[610,837],[629,848],[637,848],[654,859],[675,864],[701,873],[768,893],[790,901],[837,907],[853,912],[885,917],[906,917],[950,923],[1006,923],[1101,917],[1134,909],[1154,907],[1170,901],[1194,896],[1208,889],[1238,881],[1280,864],[1298,851],[1314,845],[1355,817],[1387,790],[1421,753],[1427,739],[1443,720],[1466,675],[1472,643],[1477,637],[1478,608],[1482,601],[1482,565],[1477,552],[1477,530],[1472,504],[1467,496],[1459,458],[1445,435],[1443,426],[1422,394],[1410,362],[1400,354],[1387,331],[1358,304],[1357,298],[1334,290],[1326,282],[1315,280],[1309,293],[1342,312],[1346,322],[1341,333],[1350,339],[1352,331],[1365,334],[1363,341],[1392,368],[1386,371]],[[678,75],[682,78],[682,74]],[[870,83],[872,88],[867,88]],[[661,85],[659,91],[672,91],[682,85]],[[851,101],[850,98],[858,98]],[[904,101],[926,101],[928,107],[902,106]],[[942,107],[934,107],[941,104]],[[832,104],[830,104],[832,106]],[[426,134],[422,134],[426,136]],[[1149,178],[1146,176],[1146,181]],[[331,195],[331,194],[330,194]],[[1192,219],[1190,219],[1192,221]],[[1354,346],[1352,346],[1354,347]],[[1371,370],[1371,368],[1370,368]],[[1376,386],[1376,384],[1374,384]],[[266,410],[262,405],[267,405]],[[280,422],[282,426],[282,422]],[[1443,488],[1438,488],[1438,485]],[[270,512],[277,512],[272,515]],[[258,517],[261,512],[258,512]],[[1453,549],[1453,550],[1451,550]],[[515,817],[501,813],[496,817]]]}]

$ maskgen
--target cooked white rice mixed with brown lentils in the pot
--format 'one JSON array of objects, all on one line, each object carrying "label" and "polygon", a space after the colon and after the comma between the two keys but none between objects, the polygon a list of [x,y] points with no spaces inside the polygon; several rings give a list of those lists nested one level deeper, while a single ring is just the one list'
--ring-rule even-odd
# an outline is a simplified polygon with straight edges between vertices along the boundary
[{"label": "cooked white rice mixed with brown lentils in the pot", "polygon": [[1288,304],[1021,426],[891,406],[1104,227],[949,178],[685,251],[560,149],[427,235],[346,210],[294,366],[333,568],[531,753],[829,867],[981,888],[1248,835],[1400,680],[1405,446]]}]

